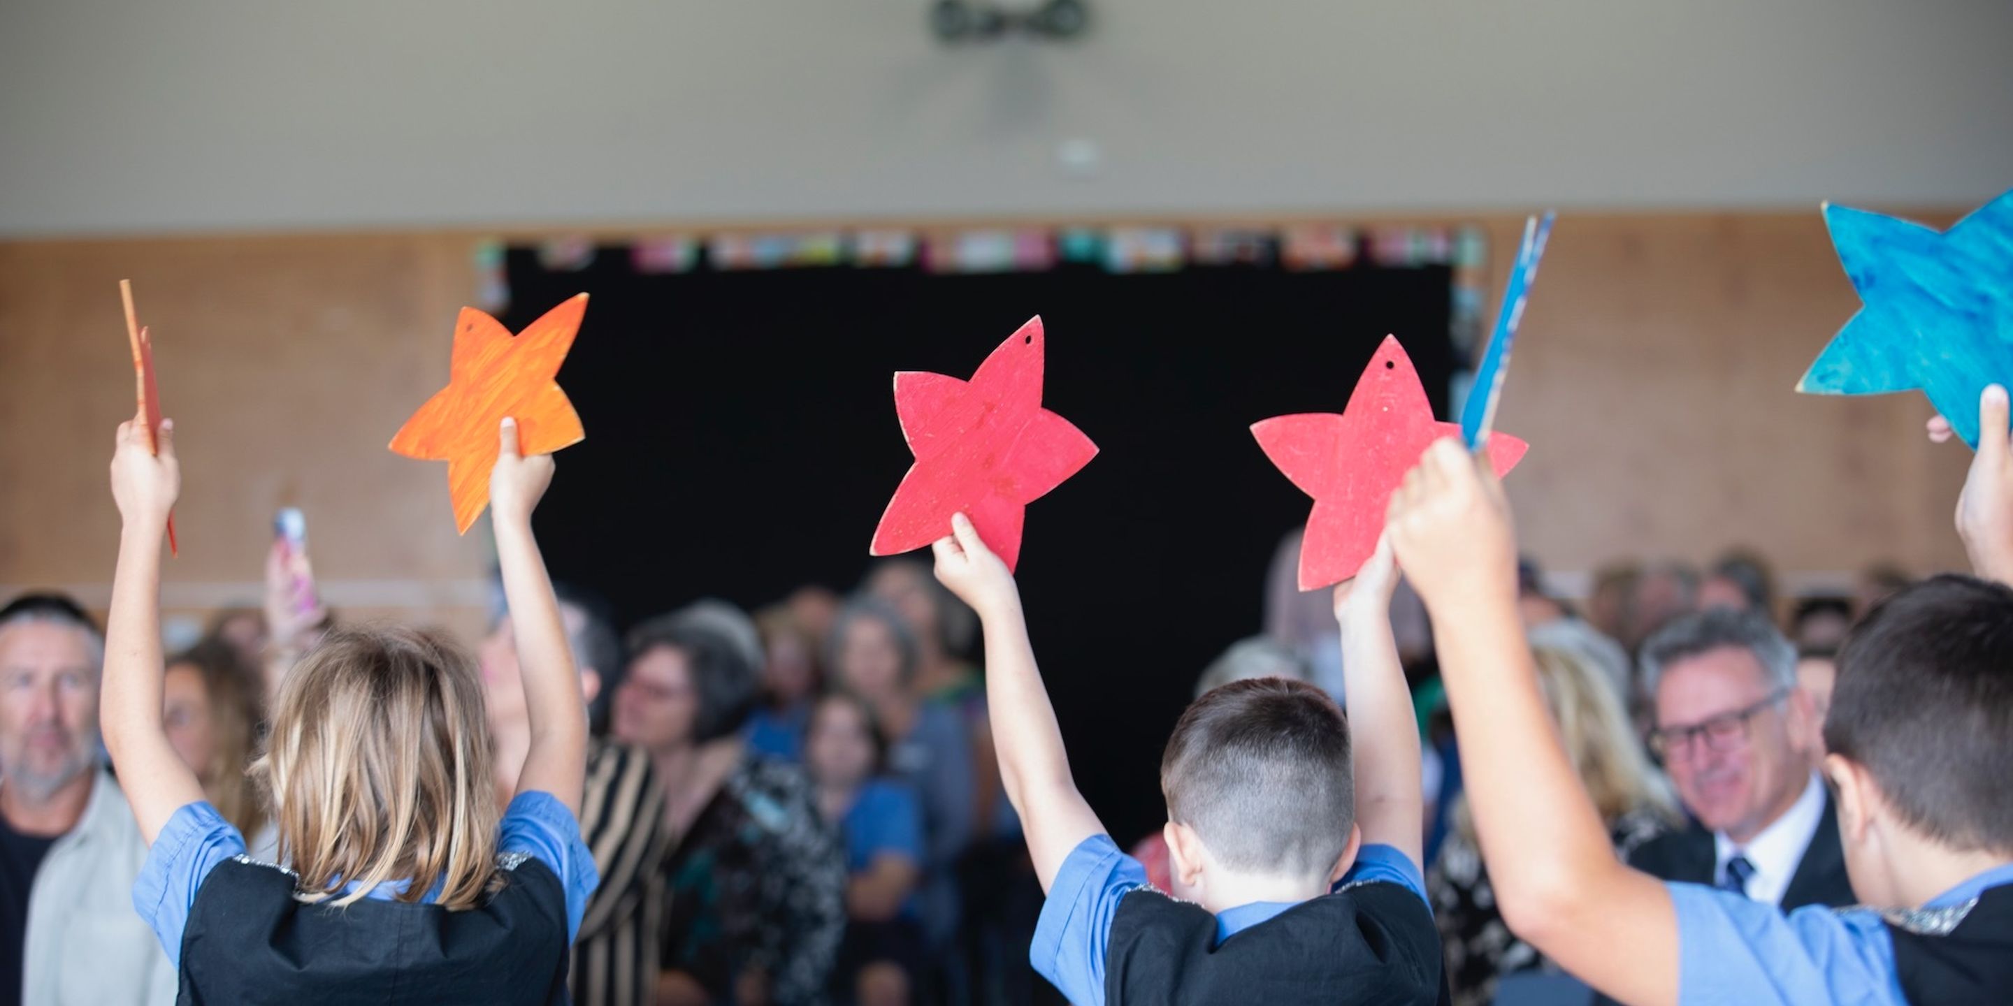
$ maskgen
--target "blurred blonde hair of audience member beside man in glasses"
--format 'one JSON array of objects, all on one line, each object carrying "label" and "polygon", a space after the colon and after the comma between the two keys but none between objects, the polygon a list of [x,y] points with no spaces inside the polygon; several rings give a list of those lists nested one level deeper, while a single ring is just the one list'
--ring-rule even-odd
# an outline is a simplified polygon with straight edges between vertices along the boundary
[{"label": "blurred blonde hair of audience member beside man in glasses", "polygon": [[[1643,754],[1608,674],[1570,648],[1534,646],[1530,656],[1538,668],[1538,692],[1558,726],[1558,740],[1600,821],[1612,825],[1631,813],[1649,813],[1677,823],[1671,783]],[[1474,839],[1465,797],[1455,809],[1455,827]]]}]

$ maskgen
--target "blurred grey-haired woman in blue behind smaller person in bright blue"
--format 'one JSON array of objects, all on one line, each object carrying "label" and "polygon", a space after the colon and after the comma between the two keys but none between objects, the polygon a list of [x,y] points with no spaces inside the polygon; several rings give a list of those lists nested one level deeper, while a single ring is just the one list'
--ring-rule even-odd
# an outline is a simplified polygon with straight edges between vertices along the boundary
[{"label": "blurred grey-haired woman in blue behind smaller person in bright blue", "polygon": [[839,612],[825,666],[833,684],[866,700],[888,732],[888,773],[922,797],[922,924],[940,948],[958,924],[954,867],[972,839],[976,809],[966,724],[952,706],[918,694],[920,656],[908,620],[874,598]]}]

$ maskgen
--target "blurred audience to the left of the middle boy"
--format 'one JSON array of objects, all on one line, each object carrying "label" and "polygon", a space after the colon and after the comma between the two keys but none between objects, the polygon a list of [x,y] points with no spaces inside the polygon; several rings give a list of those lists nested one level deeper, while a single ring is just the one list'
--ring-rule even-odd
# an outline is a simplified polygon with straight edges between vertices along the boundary
[{"label": "blurred audience to the left of the middle boy", "polygon": [[[266,702],[334,624],[286,561],[264,608],[219,612],[165,672],[175,752],[264,861],[284,855],[248,773]],[[580,825],[602,877],[574,1002],[1027,1002],[1041,895],[960,656],[976,620],[928,565],[755,618],[699,602],[628,638],[590,594],[562,585],[560,614],[596,724]],[[99,742],[103,646],[58,596],[0,614],[0,1002],[175,1000]],[[509,612],[473,650],[509,795],[529,744]]]}]

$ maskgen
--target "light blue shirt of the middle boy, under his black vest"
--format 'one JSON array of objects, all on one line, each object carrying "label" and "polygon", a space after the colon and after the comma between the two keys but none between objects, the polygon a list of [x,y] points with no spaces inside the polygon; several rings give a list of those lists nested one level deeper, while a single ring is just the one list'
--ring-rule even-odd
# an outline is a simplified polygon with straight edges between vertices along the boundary
[{"label": "light blue shirt of the middle boy, under his black vest", "polygon": [[[1433,909],[1433,901],[1425,895],[1425,873],[1391,845],[1361,847],[1355,865],[1335,887],[1341,889],[1347,883],[1397,883],[1419,895],[1427,911]],[[1035,972],[1055,984],[1069,1002],[1103,1006],[1111,917],[1117,915],[1119,901],[1127,893],[1145,885],[1145,867],[1119,851],[1111,835],[1083,839],[1055,871],[1049,899],[1041,905],[1035,944],[1029,946],[1029,962]],[[1252,901],[1218,911],[1216,942],[1222,944],[1296,903]]]}]

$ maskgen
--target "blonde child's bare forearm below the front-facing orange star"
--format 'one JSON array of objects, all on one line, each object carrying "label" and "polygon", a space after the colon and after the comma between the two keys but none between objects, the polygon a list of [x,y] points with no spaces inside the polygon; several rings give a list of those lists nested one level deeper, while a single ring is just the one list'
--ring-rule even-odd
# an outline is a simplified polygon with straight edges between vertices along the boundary
[{"label": "blonde child's bare forearm below the front-facing orange star", "polygon": [[519,789],[548,791],[578,813],[586,773],[586,698],[566,644],[552,577],[527,521],[497,521],[497,565],[503,571],[503,598],[517,636],[517,664],[531,720],[531,748]]}]

